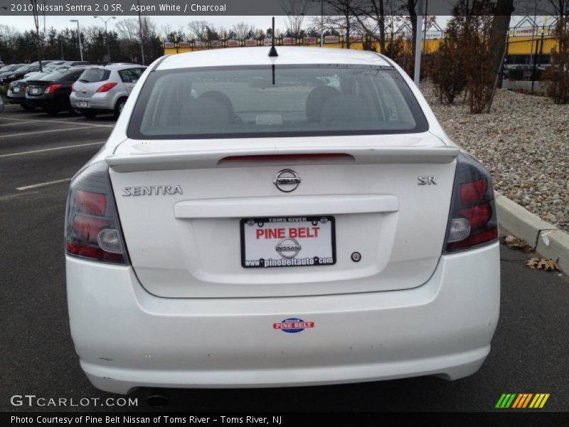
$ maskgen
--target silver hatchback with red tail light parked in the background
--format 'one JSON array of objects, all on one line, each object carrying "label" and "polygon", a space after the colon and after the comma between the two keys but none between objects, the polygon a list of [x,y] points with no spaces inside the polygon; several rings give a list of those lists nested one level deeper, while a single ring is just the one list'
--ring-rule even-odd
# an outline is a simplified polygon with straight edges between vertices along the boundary
[{"label": "silver hatchback with red tail light parked in the background", "polygon": [[69,97],[71,107],[87,118],[111,112],[119,117],[145,69],[136,64],[87,68],[73,85]]}]

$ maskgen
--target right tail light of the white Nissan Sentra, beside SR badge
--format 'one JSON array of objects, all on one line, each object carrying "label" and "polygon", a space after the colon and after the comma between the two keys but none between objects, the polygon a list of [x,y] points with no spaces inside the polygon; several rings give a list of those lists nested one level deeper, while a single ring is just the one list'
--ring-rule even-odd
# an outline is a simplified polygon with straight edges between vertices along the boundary
[{"label": "right tail light of the white Nissan Sentra, beside SR badge", "polygon": [[495,241],[498,220],[490,174],[472,157],[459,154],[445,253]]}]

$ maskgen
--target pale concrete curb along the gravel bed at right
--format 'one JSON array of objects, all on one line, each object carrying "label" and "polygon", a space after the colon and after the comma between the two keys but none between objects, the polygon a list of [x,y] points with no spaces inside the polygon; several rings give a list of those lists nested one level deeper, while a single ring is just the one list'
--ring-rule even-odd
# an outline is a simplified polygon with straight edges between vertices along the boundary
[{"label": "pale concrete curb along the gravel bed at right", "polygon": [[568,274],[569,234],[543,221],[539,216],[532,214],[498,191],[494,192],[499,226],[514,236],[523,238],[543,257],[557,261],[561,270]]}]

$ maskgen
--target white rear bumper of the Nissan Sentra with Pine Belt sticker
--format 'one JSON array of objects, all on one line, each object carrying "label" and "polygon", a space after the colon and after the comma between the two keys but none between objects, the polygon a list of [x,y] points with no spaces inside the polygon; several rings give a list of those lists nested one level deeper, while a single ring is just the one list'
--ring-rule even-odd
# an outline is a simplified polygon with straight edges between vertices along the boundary
[{"label": "white rear bumper of the Nissan Sentra with Pine Belt sticker", "polygon": [[[67,257],[70,325],[97,388],[336,384],[437,374],[486,359],[499,317],[498,243],[442,256],[409,290],[310,297],[162,298],[132,268]],[[273,328],[290,317],[299,333]]]}]

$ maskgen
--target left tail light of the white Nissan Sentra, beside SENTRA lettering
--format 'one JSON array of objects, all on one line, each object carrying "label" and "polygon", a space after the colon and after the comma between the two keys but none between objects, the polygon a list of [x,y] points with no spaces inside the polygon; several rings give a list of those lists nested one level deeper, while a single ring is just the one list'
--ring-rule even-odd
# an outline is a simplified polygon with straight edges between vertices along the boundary
[{"label": "left tail light of the white Nissan Sentra, beside SENTRA lettering", "polygon": [[93,260],[127,263],[105,162],[91,164],[71,181],[65,216],[65,252]]}]

